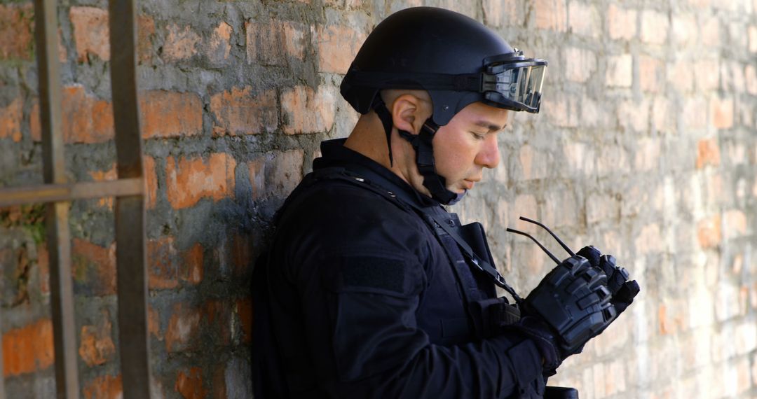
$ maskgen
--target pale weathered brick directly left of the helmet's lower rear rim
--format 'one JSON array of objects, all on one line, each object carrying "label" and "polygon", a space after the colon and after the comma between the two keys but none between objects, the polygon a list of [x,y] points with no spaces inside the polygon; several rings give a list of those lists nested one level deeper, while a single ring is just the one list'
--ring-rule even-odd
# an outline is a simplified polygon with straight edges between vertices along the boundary
[{"label": "pale weathered brick directly left of the helmet's lower rear rim", "polygon": [[295,86],[283,91],[282,120],[287,135],[329,131],[334,126],[336,89],[320,85],[317,91]]}]

